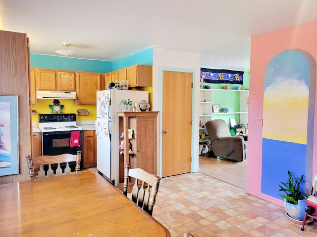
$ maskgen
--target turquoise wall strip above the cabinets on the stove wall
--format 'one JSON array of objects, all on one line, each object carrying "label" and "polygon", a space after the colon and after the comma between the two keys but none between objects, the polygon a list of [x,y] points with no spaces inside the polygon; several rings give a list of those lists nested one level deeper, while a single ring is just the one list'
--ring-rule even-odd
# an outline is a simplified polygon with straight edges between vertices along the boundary
[{"label": "turquoise wall strip above the cabinets on the stove wall", "polygon": [[31,68],[107,73],[112,71],[112,63],[101,60],[66,58],[43,54],[30,54]]}]

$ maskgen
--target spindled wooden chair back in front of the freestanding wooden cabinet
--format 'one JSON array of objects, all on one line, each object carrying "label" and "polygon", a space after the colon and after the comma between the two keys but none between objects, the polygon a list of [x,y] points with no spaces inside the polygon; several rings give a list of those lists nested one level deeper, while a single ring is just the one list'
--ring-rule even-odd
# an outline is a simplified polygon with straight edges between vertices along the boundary
[{"label": "spindled wooden chair back in front of the freestanding wooden cabinet", "polygon": [[123,182],[123,194],[125,196],[128,193],[129,177],[135,178],[131,200],[152,216],[153,206],[159,190],[160,177],[149,174],[140,168],[130,169],[130,164],[125,164]]}]

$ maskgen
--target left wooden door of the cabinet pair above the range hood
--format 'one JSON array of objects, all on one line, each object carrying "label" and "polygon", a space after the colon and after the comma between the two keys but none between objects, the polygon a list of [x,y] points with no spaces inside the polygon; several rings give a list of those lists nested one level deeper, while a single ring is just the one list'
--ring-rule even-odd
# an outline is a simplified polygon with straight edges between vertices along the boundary
[{"label": "left wooden door of the cabinet pair above the range hood", "polygon": [[38,90],[56,90],[56,72],[48,69],[36,69]]}]

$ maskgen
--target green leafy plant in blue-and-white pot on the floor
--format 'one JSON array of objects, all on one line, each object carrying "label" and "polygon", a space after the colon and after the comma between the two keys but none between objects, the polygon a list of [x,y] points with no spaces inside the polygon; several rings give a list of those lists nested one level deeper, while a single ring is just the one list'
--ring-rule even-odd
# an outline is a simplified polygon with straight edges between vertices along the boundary
[{"label": "green leafy plant in blue-and-white pot on the floor", "polygon": [[284,198],[284,206],[288,216],[296,220],[303,220],[303,216],[306,208],[306,199],[309,194],[301,191],[301,182],[303,181],[304,175],[298,179],[293,177],[292,173],[288,171],[288,182],[281,182],[279,192],[284,192],[285,194],[278,194]]}]

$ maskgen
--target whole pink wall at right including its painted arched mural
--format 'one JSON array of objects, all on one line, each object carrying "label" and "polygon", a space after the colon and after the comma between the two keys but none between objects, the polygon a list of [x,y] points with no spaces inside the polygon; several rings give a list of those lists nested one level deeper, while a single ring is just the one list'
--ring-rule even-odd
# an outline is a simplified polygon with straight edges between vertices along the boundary
[{"label": "whole pink wall at right including its painted arched mural", "polygon": [[317,172],[316,29],[314,21],[251,39],[246,192],[280,206],[288,170],[304,174],[306,193]]}]

